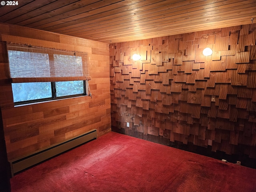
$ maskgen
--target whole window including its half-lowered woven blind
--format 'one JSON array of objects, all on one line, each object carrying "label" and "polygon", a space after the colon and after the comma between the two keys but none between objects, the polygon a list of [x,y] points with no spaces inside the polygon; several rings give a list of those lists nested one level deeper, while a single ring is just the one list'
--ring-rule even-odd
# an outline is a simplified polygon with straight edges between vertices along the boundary
[{"label": "whole window including its half-lowered woven blind", "polygon": [[17,44],[7,48],[14,105],[88,94],[86,53]]}]

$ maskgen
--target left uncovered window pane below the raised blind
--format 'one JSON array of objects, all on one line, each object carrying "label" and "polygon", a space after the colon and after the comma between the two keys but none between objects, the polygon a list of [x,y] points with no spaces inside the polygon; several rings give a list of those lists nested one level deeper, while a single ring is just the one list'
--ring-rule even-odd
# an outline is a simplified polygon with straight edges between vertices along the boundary
[{"label": "left uncovered window pane below the raised blind", "polygon": [[50,82],[12,83],[14,102],[52,98]]}]

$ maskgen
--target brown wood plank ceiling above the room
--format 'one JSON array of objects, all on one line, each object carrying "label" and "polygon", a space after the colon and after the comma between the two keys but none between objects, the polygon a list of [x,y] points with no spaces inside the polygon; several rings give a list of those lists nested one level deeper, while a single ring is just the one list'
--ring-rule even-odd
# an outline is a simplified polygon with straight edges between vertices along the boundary
[{"label": "brown wood plank ceiling above the room", "polygon": [[[7,3],[7,1],[5,1]],[[0,22],[106,43],[256,22],[256,0],[18,0]]]}]

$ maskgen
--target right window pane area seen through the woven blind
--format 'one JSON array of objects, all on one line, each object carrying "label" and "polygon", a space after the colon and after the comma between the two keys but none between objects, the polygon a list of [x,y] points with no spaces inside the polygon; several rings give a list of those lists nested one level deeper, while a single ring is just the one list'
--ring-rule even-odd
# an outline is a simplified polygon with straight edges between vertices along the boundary
[{"label": "right window pane area seen through the woven blind", "polygon": [[82,57],[54,54],[54,74],[56,77],[83,76]]}]

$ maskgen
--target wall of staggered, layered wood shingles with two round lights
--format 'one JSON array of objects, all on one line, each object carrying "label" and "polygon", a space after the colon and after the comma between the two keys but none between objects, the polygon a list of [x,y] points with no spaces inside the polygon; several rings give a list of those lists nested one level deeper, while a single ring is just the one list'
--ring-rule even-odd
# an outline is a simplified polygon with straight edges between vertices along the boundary
[{"label": "wall of staggered, layered wood shingles with two round lights", "polygon": [[248,24],[110,44],[112,127],[256,158],[255,43]]}]

